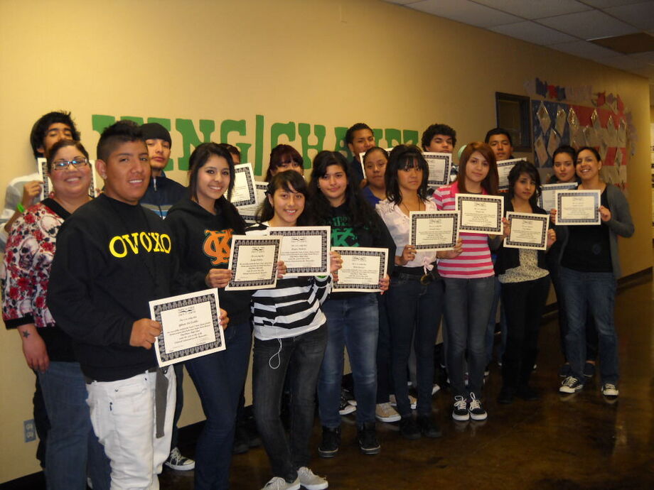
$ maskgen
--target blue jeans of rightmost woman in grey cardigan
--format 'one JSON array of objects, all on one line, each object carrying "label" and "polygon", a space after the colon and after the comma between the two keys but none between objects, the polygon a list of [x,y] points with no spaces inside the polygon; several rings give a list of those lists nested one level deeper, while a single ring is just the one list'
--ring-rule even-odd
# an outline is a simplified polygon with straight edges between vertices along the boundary
[{"label": "blue jeans of rightmost woman in grey cardigan", "polygon": [[618,336],[613,323],[616,278],[612,272],[579,272],[562,267],[559,271],[568,320],[565,336],[567,359],[572,376],[584,382],[586,361],[586,315],[595,322],[599,337],[599,368],[602,383],[617,384]]}]

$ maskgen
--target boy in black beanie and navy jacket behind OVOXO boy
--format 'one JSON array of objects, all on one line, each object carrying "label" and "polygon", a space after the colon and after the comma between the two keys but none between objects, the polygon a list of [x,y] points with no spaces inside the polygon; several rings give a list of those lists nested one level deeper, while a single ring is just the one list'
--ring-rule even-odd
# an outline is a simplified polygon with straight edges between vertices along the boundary
[{"label": "boy in black beanie and navy jacket behind OVOXO boy", "polygon": [[[171,157],[173,143],[168,129],[159,123],[148,123],[141,126],[141,132],[148,146],[152,175],[148,189],[141,197],[141,206],[151,209],[160,217],[165,218],[168,209],[186,197],[188,192],[186,187],[167,178],[164,173],[164,168],[168,165],[168,158]],[[166,462],[166,464],[168,463]],[[193,469],[193,467],[186,469]]]}]

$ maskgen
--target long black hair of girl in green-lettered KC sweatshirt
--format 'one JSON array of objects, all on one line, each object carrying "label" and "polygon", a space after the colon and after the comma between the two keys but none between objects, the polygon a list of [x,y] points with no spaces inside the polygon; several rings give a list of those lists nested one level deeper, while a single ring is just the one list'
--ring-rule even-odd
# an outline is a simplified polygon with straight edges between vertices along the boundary
[{"label": "long black hair of girl in green-lettered KC sweatshirt", "polygon": [[348,186],[345,187],[345,206],[348,209],[352,226],[355,229],[377,229],[375,210],[370,207],[352,183],[350,165],[345,157],[338,151],[323,150],[316,158],[313,158],[313,170],[311,170],[311,181],[309,182],[309,195],[311,196],[310,211],[314,224],[331,224],[333,209],[327,197],[318,187],[318,181],[327,174],[330,165],[338,165],[348,179]]}]

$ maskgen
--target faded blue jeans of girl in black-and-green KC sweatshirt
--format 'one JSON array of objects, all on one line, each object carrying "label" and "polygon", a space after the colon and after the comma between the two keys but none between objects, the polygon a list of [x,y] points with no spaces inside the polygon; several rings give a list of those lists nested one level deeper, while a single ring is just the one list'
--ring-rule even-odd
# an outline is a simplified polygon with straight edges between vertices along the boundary
[{"label": "faded blue jeans of girl in black-and-green KC sweatshirt", "polygon": [[378,308],[377,296],[372,293],[343,299],[336,293],[323,303],[328,340],[318,377],[318,413],[325,427],[333,429],[341,425],[338,405],[343,379],[343,347],[348,347],[352,368],[357,424],[375,421]]}]

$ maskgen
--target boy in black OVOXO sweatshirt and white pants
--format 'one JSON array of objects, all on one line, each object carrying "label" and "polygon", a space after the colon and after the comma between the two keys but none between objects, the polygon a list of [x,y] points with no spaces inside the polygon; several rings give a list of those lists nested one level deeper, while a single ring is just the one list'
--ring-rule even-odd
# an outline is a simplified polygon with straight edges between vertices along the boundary
[{"label": "boy in black OVOXO sweatshirt and white pants", "polygon": [[161,325],[150,320],[148,302],[173,294],[177,259],[164,221],[139,205],[150,165],[136,124],[102,132],[96,168],[104,192],[60,229],[48,305],[87,378],[112,488],[155,489],[171,449],[175,376],[156,366]]}]

